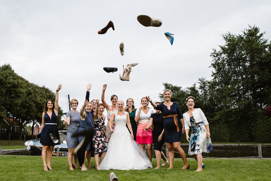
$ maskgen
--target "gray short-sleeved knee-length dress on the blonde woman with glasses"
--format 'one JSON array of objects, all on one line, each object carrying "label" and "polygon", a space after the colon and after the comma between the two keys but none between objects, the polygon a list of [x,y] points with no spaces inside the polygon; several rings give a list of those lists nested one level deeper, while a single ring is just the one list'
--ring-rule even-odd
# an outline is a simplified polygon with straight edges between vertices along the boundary
[{"label": "gray short-sleeved knee-length dress on the blonde woman with glasses", "polygon": [[70,125],[67,130],[66,141],[68,148],[75,148],[78,144],[78,137],[72,136],[74,133],[78,133],[79,129],[79,120],[80,120],[80,113],[74,113],[73,111],[67,112],[67,117],[70,117]]}]

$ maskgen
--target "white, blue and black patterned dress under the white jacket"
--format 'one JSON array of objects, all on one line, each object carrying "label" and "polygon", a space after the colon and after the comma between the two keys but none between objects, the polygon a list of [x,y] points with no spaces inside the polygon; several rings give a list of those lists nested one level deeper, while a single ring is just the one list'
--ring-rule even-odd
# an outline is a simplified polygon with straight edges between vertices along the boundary
[{"label": "white, blue and black patterned dress under the white jacket", "polygon": [[196,123],[194,116],[190,117],[192,133],[190,136],[190,144],[188,154],[209,153],[213,150],[211,138],[206,138],[206,128],[204,123]]}]

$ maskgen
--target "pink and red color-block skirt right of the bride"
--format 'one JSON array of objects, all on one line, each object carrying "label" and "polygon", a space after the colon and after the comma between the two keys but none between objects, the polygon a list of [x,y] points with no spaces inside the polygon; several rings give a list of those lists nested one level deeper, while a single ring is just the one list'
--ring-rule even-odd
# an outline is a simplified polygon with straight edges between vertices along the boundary
[{"label": "pink and red color-block skirt right of the bride", "polygon": [[152,129],[146,128],[148,123],[139,123],[136,131],[136,142],[139,144],[151,144],[152,143]]}]

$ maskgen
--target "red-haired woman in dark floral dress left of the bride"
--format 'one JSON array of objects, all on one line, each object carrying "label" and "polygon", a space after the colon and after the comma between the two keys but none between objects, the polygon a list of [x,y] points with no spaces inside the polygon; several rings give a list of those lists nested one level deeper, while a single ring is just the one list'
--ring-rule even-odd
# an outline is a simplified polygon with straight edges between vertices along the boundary
[{"label": "red-haired woman in dark floral dress left of the bride", "polygon": [[95,160],[95,167],[97,170],[101,170],[99,167],[99,154],[101,154],[101,161],[104,159],[104,156],[107,151],[107,144],[106,144],[106,134],[104,130],[104,123],[105,123],[105,116],[104,113],[104,104],[99,104],[99,100],[97,99],[97,107],[96,112],[93,114],[94,119],[94,136],[92,138],[92,143],[94,147],[94,160]]}]

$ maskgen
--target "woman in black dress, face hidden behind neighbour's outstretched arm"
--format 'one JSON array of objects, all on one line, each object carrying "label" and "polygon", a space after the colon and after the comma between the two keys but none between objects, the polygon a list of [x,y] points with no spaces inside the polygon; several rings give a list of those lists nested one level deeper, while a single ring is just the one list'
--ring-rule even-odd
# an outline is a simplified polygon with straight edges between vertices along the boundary
[{"label": "woman in black dress, face hidden behind neighbour's outstretched arm", "polygon": [[[155,102],[156,105],[159,105],[159,102]],[[155,109],[155,108],[154,108]],[[163,124],[163,114],[161,111],[156,110],[156,113],[151,114],[150,122],[145,128],[145,130],[150,129],[153,126],[152,130],[152,141],[154,144],[154,152],[157,161],[157,166],[155,169],[160,168],[161,158],[164,160],[162,166],[168,164],[168,160],[165,154],[162,151],[162,146],[165,143],[164,137],[164,124]]]}]

